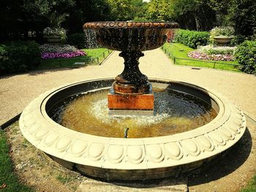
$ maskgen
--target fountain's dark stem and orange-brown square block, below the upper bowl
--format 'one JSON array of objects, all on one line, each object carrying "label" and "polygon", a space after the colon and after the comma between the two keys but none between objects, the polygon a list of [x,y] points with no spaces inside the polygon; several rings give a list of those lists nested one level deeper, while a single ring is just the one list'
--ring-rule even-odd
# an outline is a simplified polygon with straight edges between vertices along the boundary
[{"label": "fountain's dark stem and orange-brown square block, below the upper bowl", "polygon": [[108,94],[110,114],[127,115],[124,110],[146,110],[147,112],[140,112],[140,114],[153,115],[152,86],[148,82],[148,77],[142,74],[138,67],[138,60],[143,55],[140,50],[122,51],[119,54],[124,58],[124,71],[116,77]]}]

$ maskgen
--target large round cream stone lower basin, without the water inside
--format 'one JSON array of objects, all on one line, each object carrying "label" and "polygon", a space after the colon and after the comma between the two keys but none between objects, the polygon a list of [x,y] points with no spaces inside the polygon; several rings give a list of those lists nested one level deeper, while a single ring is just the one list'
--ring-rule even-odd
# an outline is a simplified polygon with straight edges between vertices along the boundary
[{"label": "large round cream stone lower basin, without the water inside", "polygon": [[218,115],[205,126],[165,137],[121,139],[72,131],[48,116],[54,104],[73,94],[110,87],[113,79],[75,82],[42,93],[23,110],[20,130],[54,161],[105,180],[149,180],[197,169],[238,142],[246,129],[243,112],[214,91],[187,82],[151,80],[153,86],[197,96]]}]

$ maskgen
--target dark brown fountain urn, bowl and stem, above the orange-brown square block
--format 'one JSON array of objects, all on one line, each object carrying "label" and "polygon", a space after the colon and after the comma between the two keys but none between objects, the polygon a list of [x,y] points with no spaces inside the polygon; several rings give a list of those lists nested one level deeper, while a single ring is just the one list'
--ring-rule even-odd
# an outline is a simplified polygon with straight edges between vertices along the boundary
[{"label": "dark brown fountain urn, bowl and stem, above the orange-brown square block", "polygon": [[178,28],[171,22],[91,22],[83,28],[96,32],[99,45],[110,50],[119,50],[124,58],[124,71],[113,83],[115,93],[147,93],[150,89],[148,77],[140,72],[138,60],[143,50],[154,50],[167,39],[167,31]]}]

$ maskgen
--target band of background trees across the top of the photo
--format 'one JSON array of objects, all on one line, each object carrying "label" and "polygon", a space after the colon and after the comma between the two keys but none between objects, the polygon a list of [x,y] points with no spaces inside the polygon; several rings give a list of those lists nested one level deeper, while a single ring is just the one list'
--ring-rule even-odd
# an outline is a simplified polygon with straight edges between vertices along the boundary
[{"label": "band of background trees across the top of the photo", "polygon": [[233,26],[243,35],[256,30],[255,0],[2,0],[0,41],[28,38],[29,31],[42,37],[53,14],[69,15],[61,23],[69,34],[97,20],[174,20],[197,31]]}]

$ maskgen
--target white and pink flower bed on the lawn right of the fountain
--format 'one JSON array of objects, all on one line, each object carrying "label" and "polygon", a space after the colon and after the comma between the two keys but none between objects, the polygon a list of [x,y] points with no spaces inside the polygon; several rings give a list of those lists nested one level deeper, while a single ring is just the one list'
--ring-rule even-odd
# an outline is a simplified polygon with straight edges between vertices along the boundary
[{"label": "white and pink flower bed on the lawn right of the fountain", "polygon": [[197,50],[189,52],[189,58],[213,61],[234,61],[236,47],[214,47],[211,45],[200,46]]}]

